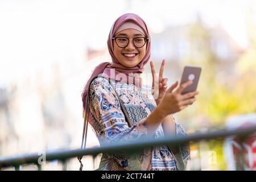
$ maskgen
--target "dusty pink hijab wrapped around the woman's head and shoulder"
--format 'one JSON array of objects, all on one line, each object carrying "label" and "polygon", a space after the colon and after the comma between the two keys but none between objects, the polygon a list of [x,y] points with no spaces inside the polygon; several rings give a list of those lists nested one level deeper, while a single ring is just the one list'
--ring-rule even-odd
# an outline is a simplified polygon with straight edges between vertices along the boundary
[{"label": "dusty pink hijab wrapped around the woman's head and shoulder", "polygon": [[[141,27],[144,35],[146,35],[146,37],[148,38],[147,44],[146,44],[146,55],[143,57],[141,63],[139,63],[138,65],[136,65],[133,68],[127,68],[127,67],[123,66],[122,64],[120,64],[118,62],[118,60],[114,56],[114,46],[113,46],[112,38],[115,35],[115,32],[118,30],[118,28],[120,26],[122,26],[122,24],[127,21],[134,22],[139,27]],[[144,71],[144,65],[150,59],[150,44],[151,44],[150,43],[150,35],[148,34],[147,25],[141,17],[139,17],[138,15],[133,14],[133,13],[127,13],[127,14],[123,14],[117,20],[115,20],[115,22],[109,32],[109,38],[108,38],[108,49],[109,49],[110,56],[112,57],[112,63],[104,62],[104,63],[99,64],[94,69],[92,76],[90,76],[90,78],[89,78],[88,82],[86,83],[85,88],[82,92],[82,106],[84,107],[84,110],[86,110],[86,105],[89,104],[89,103],[86,103],[86,98],[88,97],[88,90],[89,90],[89,86],[90,86],[89,84],[92,81],[92,79],[94,77],[104,73],[105,76],[108,76],[109,78],[112,78],[115,81],[122,81],[122,80],[118,80],[118,78],[110,77],[110,76],[112,76],[112,75],[110,75],[110,70],[113,70],[113,68],[114,68],[114,72],[115,72],[114,75],[117,75],[118,73],[123,73],[127,77],[126,82],[128,82],[129,81],[129,73],[140,74]],[[134,79],[134,78],[132,78],[132,79]],[[137,78],[135,78],[135,79],[137,79]],[[135,81],[134,81],[134,83],[135,83]],[[141,84],[141,81],[140,81],[140,84]]]}]

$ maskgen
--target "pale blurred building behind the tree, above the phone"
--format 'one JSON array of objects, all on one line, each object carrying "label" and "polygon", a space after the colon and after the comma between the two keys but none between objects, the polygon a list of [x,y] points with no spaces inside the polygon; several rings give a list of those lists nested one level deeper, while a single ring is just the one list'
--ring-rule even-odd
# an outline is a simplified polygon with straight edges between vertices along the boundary
[{"label": "pale blurred building behind the tree, above the phone", "polygon": [[[238,46],[234,39],[221,26],[205,28],[209,34],[209,48],[216,56],[216,65],[218,74],[224,78],[231,78],[236,75],[235,67],[238,58],[243,53],[243,48]],[[174,76],[181,76],[183,68],[181,63],[191,54],[200,54],[200,41],[196,42],[198,49],[191,49],[189,34],[191,25],[168,27],[159,34],[152,34],[152,55],[151,59],[155,64],[160,63],[162,59],[170,62],[168,69],[171,69],[172,79]],[[197,53],[193,51],[198,51]],[[192,53],[193,52],[193,53]],[[198,63],[200,66],[202,63]],[[167,75],[168,76],[168,75]]]}]

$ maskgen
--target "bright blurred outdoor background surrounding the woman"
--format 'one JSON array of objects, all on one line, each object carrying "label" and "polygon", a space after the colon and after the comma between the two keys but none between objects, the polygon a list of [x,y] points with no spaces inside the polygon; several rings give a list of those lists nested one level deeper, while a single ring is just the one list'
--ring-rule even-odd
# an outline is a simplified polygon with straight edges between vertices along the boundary
[{"label": "bright blurred outdoor background surrounding the woman", "polygon": [[[187,133],[240,127],[245,119],[232,118],[256,113],[253,0],[0,0],[0,156],[80,147],[82,89],[94,67],[111,61],[108,34],[124,13],[147,23],[151,60],[158,71],[166,59],[169,86],[184,65],[202,67],[197,102],[175,114]],[[87,146],[98,146],[92,129]],[[193,143],[188,169],[232,169],[229,152],[224,141]],[[85,169],[99,159],[84,157]],[[69,170],[78,168],[69,161]],[[61,167],[53,161],[43,169]]]}]

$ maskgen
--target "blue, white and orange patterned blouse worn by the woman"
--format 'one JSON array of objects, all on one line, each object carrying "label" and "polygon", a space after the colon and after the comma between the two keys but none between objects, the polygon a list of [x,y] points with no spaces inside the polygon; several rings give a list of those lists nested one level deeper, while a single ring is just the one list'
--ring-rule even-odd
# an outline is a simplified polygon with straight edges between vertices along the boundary
[{"label": "blue, white and orange patterned blouse worn by the woman", "polygon": [[[100,144],[126,140],[138,140],[147,137],[146,118],[156,107],[149,86],[139,88],[134,84],[115,82],[111,80],[116,92],[123,101],[129,114],[132,127],[129,127],[125,115],[119,105],[118,98],[109,81],[97,77],[90,84],[90,112],[93,118],[93,128]],[[183,127],[175,122],[176,135],[186,135]],[[164,137],[163,126],[160,125],[154,138]],[[179,146],[179,152],[174,154],[171,146],[154,146],[136,154],[126,151],[115,154],[103,154],[100,170],[114,158],[126,170],[184,170],[189,158],[189,146]]]}]

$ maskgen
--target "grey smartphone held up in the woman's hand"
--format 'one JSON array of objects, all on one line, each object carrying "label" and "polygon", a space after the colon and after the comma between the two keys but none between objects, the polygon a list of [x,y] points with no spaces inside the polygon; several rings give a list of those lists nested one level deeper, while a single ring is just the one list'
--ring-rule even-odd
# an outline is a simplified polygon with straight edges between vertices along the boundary
[{"label": "grey smartphone held up in the woman's hand", "polygon": [[197,85],[198,85],[198,82],[199,82],[200,74],[201,74],[201,67],[191,67],[191,66],[185,66],[184,67],[180,84],[183,84],[184,82],[187,82],[189,80],[193,81],[193,84],[188,85],[181,92],[181,94],[196,91]]}]

